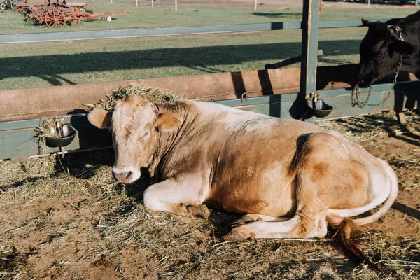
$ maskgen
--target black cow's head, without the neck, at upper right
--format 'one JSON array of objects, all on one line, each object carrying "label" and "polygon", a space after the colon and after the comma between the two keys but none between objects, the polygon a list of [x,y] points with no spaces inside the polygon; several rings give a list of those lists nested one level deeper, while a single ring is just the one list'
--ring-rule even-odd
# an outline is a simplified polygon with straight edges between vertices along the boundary
[{"label": "black cow's head, without the neck, at upper right", "polygon": [[397,69],[401,55],[410,55],[414,49],[409,43],[400,41],[397,31],[384,22],[363,19],[362,22],[369,29],[360,43],[357,83],[360,87],[369,87]]}]

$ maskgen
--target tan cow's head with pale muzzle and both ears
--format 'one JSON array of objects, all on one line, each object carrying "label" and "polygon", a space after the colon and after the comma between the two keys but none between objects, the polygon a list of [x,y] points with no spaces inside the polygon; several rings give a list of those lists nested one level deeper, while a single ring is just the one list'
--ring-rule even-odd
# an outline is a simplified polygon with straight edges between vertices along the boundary
[{"label": "tan cow's head with pale muzzle and both ears", "polygon": [[109,111],[89,113],[92,125],[111,129],[116,162],[112,172],[116,181],[131,183],[140,178],[141,167],[149,167],[160,142],[160,132],[176,130],[183,119],[175,113],[160,113],[158,107],[134,96],[117,102]]}]

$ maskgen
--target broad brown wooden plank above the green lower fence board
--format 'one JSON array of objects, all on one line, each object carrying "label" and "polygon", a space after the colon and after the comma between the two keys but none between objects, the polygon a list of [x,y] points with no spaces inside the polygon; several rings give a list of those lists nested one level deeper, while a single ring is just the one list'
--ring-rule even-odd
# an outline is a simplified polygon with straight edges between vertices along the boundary
[{"label": "broad brown wooden plank above the green lower fence board", "polygon": [[[357,64],[318,67],[316,89],[349,87],[357,71]],[[399,80],[406,76],[400,74]],[[393,78],[394,73],[388,77],[388,81],[392,82]],[[0,90],[0,122],[74,115],[86,109],[83,104],[95,104],[106,94],[112,94],[113,90],[127,85],[159,87],[185,98],[200,98],[203,101],[237,99],[244,92],[248,97],[298,92],[300,68]],[[391,88],[391,85],[388,87]],[[15,106],[14,100],[20,100],[20,106]]]}]

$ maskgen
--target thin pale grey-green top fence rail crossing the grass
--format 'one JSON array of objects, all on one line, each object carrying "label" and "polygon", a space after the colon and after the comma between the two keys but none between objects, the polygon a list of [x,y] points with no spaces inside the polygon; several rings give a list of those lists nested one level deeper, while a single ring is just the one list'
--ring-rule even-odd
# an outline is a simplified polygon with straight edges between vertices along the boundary
[{"label": "thin pale grey-green top fence rail crossing the grass", "polygon": [[[386,22],[389,19],[369,19]],[[361,27],[361,20],[327,20],[319,22],[319,28]],[[4,43],[38,43],[54,41],[78,41],[116,38],[141,38],[154,36],[179,36],[197,34],[215,34],[249,31],[272,31],[301,29],[302,22],[266,22],[244,25],[208,25],[196,27],[159,27],[141,29],[63,31],[25,34],[1,34],[0,44]]]}]

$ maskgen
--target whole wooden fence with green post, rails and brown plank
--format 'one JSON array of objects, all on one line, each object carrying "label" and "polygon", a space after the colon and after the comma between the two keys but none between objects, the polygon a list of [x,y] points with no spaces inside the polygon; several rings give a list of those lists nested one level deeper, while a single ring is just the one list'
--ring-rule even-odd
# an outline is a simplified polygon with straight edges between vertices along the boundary
[{"label": "whole wooden fence with green post, rails and brown plank", "polygon": [[[76,139],[66,147],[67,151],[111,146],[111,136],[92,127],[87,122],[87,113],[80,113],[80,109],[83,109],[82,104],[96,103],[122,85],[146,84],[162,87],[174,92],[187,92],[189,97],[200,97],[207,102],[311,122],[317,118],[307,113],[305,98],[310,93],[318,94],[333,107],[326,118],[416,109],[419,103],[419,95],[415,96],[419,92],[418,81],[400,82],[395,86],[382,83],[356,92],[351,89],[351,78],[357,71],[357,65],[317,67],[319,28],[361,26],[360,20],[319,21],[318,10],[319,0],[304,0],[302,22],[0,35],[1,44],[302,29],[300,69],[265,69],[41,89],[1,90],[0,160],[23,160],[44,153],[60,153],[59,148],[45,149],[35,138],[34,127],[50,116],[64,116],[78,132]],[[337,73],[343,75],[336,76]],[[194,86],[197,84],[200,87]],[[402,113],[398,116],[403,122]]]}]

